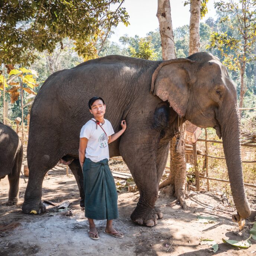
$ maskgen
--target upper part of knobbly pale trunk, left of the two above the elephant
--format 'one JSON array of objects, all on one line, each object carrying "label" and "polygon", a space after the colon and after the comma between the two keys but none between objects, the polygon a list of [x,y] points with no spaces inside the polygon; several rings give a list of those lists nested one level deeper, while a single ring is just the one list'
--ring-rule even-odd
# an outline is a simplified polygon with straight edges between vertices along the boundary
[{"label": "upper part of knobbly pale trunk, left of the two above the elephant", "polygon": [[157,14],[161,35],[163,60],[176,58],[169,0],[158,0]]}]

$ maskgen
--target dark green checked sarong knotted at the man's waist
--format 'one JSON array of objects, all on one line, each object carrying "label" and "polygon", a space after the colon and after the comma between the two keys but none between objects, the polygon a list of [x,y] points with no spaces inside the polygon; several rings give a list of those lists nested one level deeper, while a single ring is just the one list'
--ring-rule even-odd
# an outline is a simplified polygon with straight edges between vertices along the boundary
[{"label": "dark green checked sarong knotted at the man's waist", "polygon": [[118,218],[116,186],[108,159],[95,163],[86,158],[83,176],[85,216],[94,220]]}]

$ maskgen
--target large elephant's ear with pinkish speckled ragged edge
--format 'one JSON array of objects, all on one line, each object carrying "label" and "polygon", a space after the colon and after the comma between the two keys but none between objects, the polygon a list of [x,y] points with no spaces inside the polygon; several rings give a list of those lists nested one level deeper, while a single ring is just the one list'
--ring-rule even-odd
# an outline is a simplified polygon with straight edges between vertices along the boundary
[{"label": "large elephant's ear with pinkish speckled ragged edge", "polygon": [[191,61],[187,58],[163,61],[154,71],[150,91],[170,106],[180,117],[185,116],[188,105],[188,84]]}]

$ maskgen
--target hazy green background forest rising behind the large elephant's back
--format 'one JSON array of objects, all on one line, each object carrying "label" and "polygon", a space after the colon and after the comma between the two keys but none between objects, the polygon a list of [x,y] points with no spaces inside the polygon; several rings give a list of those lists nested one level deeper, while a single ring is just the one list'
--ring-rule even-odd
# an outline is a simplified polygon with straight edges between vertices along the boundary
[{"label": "hazy green background forest rising behind the large elephant's back", "polygon": [[[0,3],[1,2],[2,1],[0,0]],[[24,1],[24,3],[25,2],[26,1]],[[94,3],[97,1],[91,2]],[[121,1],[116,0],[116,2],[120,3]],[[207,1],[205,1],[205,3],[207,4]],[[38,5],[36,5],[34,8],[39,7]],[[221,9],[219,6],[217,6],[216,8],[216,17],[210,17],[206,19],[205,22],[200,23],[200,51],[211,52],[213,55],[216,55],[223,63],[227,65],[229,76],[237,85],[237,96],[239,100],[241,70],[239,68],[234,68],[234,65],[236,65],[236,63],[240,60],[240,57],[237,56],[240,56],[239,54],[241,53],[241,49],[239,47],[241,47],[241,45],[243,44],[243,35],[241,35],[239,29],[234,29],[237,27],[237,16],[234,15],[234,13],[232,12],[224,12],[223,9]],[[128,25],[128,16],[126,11],[121,8],[118,12],[118,15],[119,21],[124,23],[127,22],[126,24]],[[251,19],[255,19],[255,13],[251,13],[250,15]],[[15,17],[15,19],[17,19],[17,17]],[[89,20],[87,20],[87,22],[89,22]],[[252,28],[253,24],[255,23],[251,23]],[[112,25],[115,26],[115,23]],[[60,24],[58,26],[60,26]],[[33,30],[33,26],[30,28]],[[49,29],[50,28],[51,26],[49,26]],[[9,28],[6,29],[8,31]],[[95,31],[99,32],[99,29],[100,28],[97,28]],[[0,32],[0,34],[1,33],[2,32]],[[77,48],[79,44],[79,38],[69,36],[69,34],[64,31],[63,34],[58,37],[58,39],[56,39],[57,41],[52,41],[53,45],[51,46],[51,49],[48,49],[49,45],[45,46],[46,48],[38,48],[34,51],[33,58],[28,59],[26,66],[24,66],[24,63],[21,62],[19,64],[16,64],[15,68],[19,69],[22,67],[26,67],[29,70],[36,71],[36,73],[38,74],[38,77],[36,78],[36,83],[39,84],[39,86],[33,87],[33,92],[36,94],[40,89],[42,83],[47,79],[50,74],[58,70],[75,67],[77,64],[86,61],[91,57],[95,58],[103,57],[106,55],[119,54],[136,58],[144,58],[148,60],[161,60],[161,38],[158,28],[149,31],[145,37],[140,37],[139,35],[131,37],[127,34],[124,34],[119,38],[119,42],[111,41],[110,38],[112,33],[114,33],[113,29],[110,29],[108,31],[108,29],[102,27],[101,32],[97,33],[97,38],[93,38],[92,34],[88,34],[88,38],[92,40],[88,40],[88,43],[83,44],[83,47],[87,47],[87,50],[81,47],[81,49],[83,48],[83,53],[81,53],[81,51],[79,51]],[[249,33],[252,33],[252,29],[250,29]],[[177,58],[187,57],[189,49],[189,25],[180,26],[174,29],[173,34],[175,39]],[[30,36],[33,35],[31,34]],[[251,35],[252,38],[254,38],[254,36],[256,38],[256,33]],[[244,96],[244,107],[256,106],[256,43],[255,39],[252,38],[250,38],[249,40],[250,45],[247,48],[247,60],[244,69],[244,83],[246,84],[247,89]],[[51,40],[49,41],[51,42]],[[12,44],[15,44],[15,42]],[[10,44],[10,47],[12,47],[12,44]],[[29,50],[30,48],[26,49]],[[84,54],[84,52],[86,51],[92,55],[90,56],[90,54]],[[1,70],[3,70],[3,65],[1,67]],[[9,75],[7,74],[7,72],[6,79],[9,79]],[[0,77],[0,90],[1,86],[3,86],[3,83],[1,83]],[[11,89],[10,85],[6,86],[8,86],[6,87],[7,90]],[[29,95],[30,93],[25,90],[23,103],[26,103],[28,101]],[[11,104],[10,98],[12,96],[9,93],[6,93],[6,97],[9,102],[9,119],[15,119],[17,116],[21,115],[20,99],[17,99],[13,104]],[[0,120],[3,119],[2,103],[3,96],[0,97]],[[25,115],[26,111],[27,110],[25,109]],[[252,113],[253,112],[247,111],[243,113],[243,116],[246,118]]]}]

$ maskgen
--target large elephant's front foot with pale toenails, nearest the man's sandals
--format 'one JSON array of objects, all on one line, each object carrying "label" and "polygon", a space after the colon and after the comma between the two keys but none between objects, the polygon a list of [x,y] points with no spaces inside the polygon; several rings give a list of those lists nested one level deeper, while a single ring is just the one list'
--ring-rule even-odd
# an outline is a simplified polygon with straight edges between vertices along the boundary
[{"label": "large elephant's front foot with pale toenails, nearest the man's sandals", "polygon": [[153,227],[157,220],[163,218],[163,214],[158,208],[150,208],[146,205],[137,204],[137,207],[131,214],[131,220],[137,224]]}]

